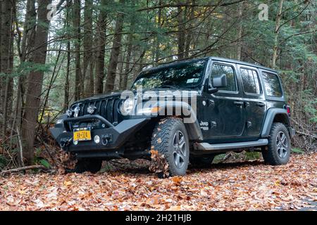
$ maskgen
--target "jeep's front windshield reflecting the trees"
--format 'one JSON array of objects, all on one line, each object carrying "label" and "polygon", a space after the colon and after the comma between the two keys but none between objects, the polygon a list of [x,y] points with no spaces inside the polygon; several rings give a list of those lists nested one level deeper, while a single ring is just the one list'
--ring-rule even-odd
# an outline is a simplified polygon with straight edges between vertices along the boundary
[{"label": "jeep's front windshield reflecting the trees", "polygon": [[181,63],[168,68],[142,72],[132,85],[132,89],[180,88],[190,89],[200,84],[204,76],[207,60]]}]

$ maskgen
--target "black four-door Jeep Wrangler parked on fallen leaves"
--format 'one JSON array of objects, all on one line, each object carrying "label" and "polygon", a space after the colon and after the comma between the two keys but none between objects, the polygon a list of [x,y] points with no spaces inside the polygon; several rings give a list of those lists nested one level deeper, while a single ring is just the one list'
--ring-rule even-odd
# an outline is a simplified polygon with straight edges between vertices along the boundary
[{"label": "black four-door Jeep Wrangler parked on fallen leaves", "polygon": [[294,133],[275,70],[214,57],[144,70],[130,91],[77,101],[51,129],[77,172],[157,150],[171,176],[227,151],[259,150],[268,164],[286,164]]}]

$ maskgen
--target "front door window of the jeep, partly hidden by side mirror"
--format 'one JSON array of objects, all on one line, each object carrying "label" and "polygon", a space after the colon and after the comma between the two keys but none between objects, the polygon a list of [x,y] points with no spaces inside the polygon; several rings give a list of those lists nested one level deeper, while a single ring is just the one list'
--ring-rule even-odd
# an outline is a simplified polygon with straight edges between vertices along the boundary
[{"label": "front door window of the jeep, partly hidden by side mirror", "polygon": [[235,72],[230,65],[213,64],[211,68],[211,78],[220,77],[221,75],[227,76],[227,86],[220,88],[223,91],[237,91],[237,82],[235,79]]}]

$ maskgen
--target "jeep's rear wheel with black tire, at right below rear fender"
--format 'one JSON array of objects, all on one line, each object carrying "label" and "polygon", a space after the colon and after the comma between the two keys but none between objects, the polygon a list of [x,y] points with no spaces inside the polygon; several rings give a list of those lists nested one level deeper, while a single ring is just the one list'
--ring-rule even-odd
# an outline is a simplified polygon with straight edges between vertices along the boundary
[{"label": "jeep's rear wheel with black tire, at right below rear fender", "polygon": [[[285,135],[285,141],[287,146],[280,145],[280,139],[278,136]],[[281,149],[283,148],[283,149]],[[268,148],[262,150],[264,162],[269,165],[285,165],[290,160],[290,134],[284,124],[280,122],[274,122],[271,127],[270,136],[268,137]],[[281,156],[282,155],[282,156]]]}]

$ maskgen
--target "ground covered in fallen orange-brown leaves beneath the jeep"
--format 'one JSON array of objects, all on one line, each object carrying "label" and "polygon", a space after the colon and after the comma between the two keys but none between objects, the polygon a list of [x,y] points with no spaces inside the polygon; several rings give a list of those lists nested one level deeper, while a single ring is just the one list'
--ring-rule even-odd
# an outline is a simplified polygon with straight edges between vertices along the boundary
[{"label": "ground covered in fallen orange-brown leaves beneath the jeep", "polygon": [[168,179],[135,165],[0,177],[0,210],[299,210],[317,201],[317,153],[292,155],[278,167],[252,161],[189,168]]}]

